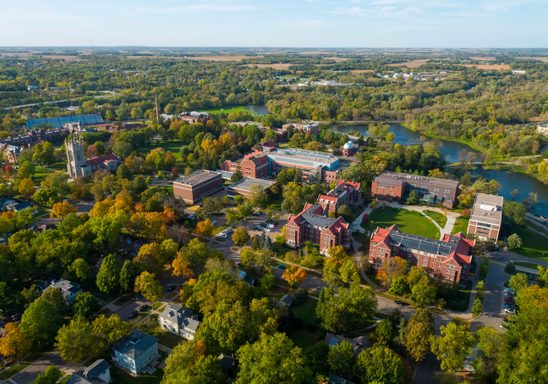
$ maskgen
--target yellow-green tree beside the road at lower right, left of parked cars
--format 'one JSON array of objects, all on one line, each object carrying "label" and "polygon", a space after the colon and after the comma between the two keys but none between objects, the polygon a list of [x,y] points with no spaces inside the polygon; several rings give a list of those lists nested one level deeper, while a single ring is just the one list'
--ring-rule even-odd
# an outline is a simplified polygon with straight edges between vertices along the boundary
[{"label": "yellow-green tree beside the road at lower right, left of parked cars", "polygon": [[441,336],[432,336],[430,345],[444,371],[454,372],[461,368],[472,353],[474,335],[467,325],[448,323],[440,327]]}]

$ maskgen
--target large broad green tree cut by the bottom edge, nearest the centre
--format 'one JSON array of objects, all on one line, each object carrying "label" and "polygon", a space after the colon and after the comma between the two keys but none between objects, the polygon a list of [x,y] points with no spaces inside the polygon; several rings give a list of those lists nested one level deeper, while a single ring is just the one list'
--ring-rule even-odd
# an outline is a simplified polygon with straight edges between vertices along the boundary
[{"label": "large broad green tree cut by the bottom edge, nearest the centre", "polygon": [[283,333],[262,334],[255,343],[242,346],[236,356],[240,363],[236,384],[300,384],[312,379],[302,350]]}]

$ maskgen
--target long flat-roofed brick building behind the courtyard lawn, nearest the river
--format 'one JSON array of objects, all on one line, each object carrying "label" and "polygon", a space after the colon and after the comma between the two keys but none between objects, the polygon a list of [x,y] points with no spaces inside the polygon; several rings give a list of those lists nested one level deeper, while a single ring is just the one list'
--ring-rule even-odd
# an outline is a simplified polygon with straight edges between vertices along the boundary
[{"label": "long flat-roofed brick building behind the courtyard lawn, nearest the river", "polygon": [[385,172],[373,180],[371,195],[381,199],[403,201],[411,191],[417,191],[423,202],[453,208],[458,187],[459,182],[456,180]]}]

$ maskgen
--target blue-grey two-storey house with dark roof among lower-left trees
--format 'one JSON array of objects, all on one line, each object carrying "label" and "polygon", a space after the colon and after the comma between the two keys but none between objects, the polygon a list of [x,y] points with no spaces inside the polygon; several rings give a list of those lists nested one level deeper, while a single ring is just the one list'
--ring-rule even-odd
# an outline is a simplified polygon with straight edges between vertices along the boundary
[{"label": "blue-grey two-storey house with dark roof among lower-left trees", "polygon": [[159,356],[158,339],[139,330],[132,331],[112,347],[112,361],[134,375],[148,370]]}]

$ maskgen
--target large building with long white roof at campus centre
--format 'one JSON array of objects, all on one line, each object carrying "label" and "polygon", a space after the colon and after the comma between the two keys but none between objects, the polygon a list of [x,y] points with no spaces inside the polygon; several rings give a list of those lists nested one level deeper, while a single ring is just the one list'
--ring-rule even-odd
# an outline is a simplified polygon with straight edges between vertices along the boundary
[{"label": "large building with long white roof at campus centre", "polygon": [[274,149],[266,154],[272,163],[272,173],[278,174],[285,168],[296,168],[307,181],[333,183],[341,170],[341,162],[330,153],[304,149]]}]

